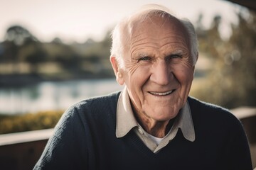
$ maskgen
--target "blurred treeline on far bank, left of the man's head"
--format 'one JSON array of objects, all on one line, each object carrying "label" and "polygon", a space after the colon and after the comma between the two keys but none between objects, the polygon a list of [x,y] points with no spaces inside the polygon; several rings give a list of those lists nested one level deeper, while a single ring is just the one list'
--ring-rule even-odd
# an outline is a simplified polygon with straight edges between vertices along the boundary
[{"label": "blurred treeline on far bank, left of the man's head", "polygon": [[[100,42],[88,39],[85,43],[63,43],[60,38],[52,42],[39,42],[21,26],[12,26],[6,31],[0,64],[9,64],[11,71],[1,70],[1,74],[32,74],[43,79],[83,79],[112,77],[109,62],[111,38],[110,32]],[[45,64],[57,69],[42,69]],[[28,66],[24,73],[23,66]],[[0,65],[1,67],[1,65]],[[60,76],[59,76],[60,75]]]}]

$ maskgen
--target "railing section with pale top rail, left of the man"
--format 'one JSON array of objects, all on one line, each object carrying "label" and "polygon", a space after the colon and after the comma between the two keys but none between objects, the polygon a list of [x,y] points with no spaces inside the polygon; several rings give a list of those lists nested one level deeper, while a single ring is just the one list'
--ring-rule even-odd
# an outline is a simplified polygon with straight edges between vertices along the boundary
[{"label": "railing section with pale top rail, left of the man", "polygon": [[0,135],[0,169],[33,169],[52,134],[53,129]]}]

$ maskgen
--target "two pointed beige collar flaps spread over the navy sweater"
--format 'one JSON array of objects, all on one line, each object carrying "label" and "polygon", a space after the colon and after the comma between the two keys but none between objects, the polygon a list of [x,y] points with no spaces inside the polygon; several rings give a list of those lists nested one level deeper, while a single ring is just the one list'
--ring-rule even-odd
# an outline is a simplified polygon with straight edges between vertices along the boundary
[{"label": "two pointed beige collar flaps spread over the navy sweater", "polygon": [[[127,91],[127,87],[125,86],[117,101],[116,136],[124,137],[130,130],[132,130],[132,128],[137,126],[139,125],[137,123],[137,120],[134,118],[132,106],[129,100],[129,94]],[[177,132],[178,128],[181,129],[181,132],[183,133],[183,136],[186,138],[186,140],[189,140],[191,142],[195,140],[195,131],[193,128],[193,120],[191,117],[191,110],[188,101],[186,102],[185,106],[181,108],[178,120],[175,121],[173,127],[171,128],[171,131]],[[176,132],[174,132],[175,135]]]}]

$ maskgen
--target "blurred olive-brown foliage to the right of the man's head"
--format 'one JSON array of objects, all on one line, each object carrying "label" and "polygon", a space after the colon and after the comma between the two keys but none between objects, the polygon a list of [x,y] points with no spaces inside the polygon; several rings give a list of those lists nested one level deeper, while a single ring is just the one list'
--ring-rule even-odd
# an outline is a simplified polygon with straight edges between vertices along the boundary
[{"label": "blurred olive-brown foliage to the right of the man's head", "polygon": [[[193,96],[227,108],[256,106],[256,14],[238,13],[229,40],[222,40],[218,22],[198,36],[200,54],[211,61],[211,72],[196,86]],[[201,57],[199,55],[199,57]]]}]

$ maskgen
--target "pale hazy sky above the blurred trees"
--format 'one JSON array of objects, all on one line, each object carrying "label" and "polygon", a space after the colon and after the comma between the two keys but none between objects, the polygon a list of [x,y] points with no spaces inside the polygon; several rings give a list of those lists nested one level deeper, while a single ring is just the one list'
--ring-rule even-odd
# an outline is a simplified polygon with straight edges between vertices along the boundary
[{"label": "pale hazy sky above the blurred trees", "polygon": [[221,34],[227,38],[230,23],[236,23],[239,6],[224,0],[0,0],[0,42],[10,26],[19,25],[43,42],[102,40],[107,30],[144,4],[161,4],[177,16],[196,23],[203,13],[203,26],[213,16],[222,16]]}]

